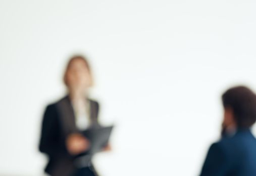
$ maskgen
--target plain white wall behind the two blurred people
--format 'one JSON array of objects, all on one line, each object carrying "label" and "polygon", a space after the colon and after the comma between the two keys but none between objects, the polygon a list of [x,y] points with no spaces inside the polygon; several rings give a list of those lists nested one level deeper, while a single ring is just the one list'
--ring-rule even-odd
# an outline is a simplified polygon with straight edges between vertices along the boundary
[{"label": "plain white wall behind the two blurred people", "polygon": [[45,106],[65,94],[73,53],[89,57],[92,97],[113,151],[102,176],[197,175],[218,139],[220,96],[256,90],[256,2],[0,1],[0,174],[40,175]]}]

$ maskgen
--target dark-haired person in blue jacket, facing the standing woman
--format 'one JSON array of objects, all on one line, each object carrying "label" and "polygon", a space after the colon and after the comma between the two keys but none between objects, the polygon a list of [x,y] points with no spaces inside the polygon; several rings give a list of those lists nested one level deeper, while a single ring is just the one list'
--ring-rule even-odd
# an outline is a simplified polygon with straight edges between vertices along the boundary
[{"label": "dark-haired person in blue jacket, facing the standing woman", "polygon": [[256,95],[236,86],[222,95],[222,138],[211,145],[201,176],[255,176],[256,139],[250,128],[256,120]]}]

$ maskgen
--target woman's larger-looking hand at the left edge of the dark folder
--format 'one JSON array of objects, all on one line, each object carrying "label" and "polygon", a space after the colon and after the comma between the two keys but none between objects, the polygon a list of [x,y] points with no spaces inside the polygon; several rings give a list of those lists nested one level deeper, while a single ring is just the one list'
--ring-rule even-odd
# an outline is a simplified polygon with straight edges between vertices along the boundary
[{"label": "woman's larger-looking hand at the left edge of the dark folder", "polygon": [[89,149],[90,142],[83,135],[73,133],[67,137],[66,146],[70,154],[77,155]]}]

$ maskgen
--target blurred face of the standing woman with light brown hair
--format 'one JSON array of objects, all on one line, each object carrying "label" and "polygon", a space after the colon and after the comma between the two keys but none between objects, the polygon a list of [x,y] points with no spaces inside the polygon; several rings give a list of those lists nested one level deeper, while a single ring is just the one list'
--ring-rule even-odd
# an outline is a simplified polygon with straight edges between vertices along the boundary
[{"label": "blurred face of the standing woman with light brown hair", "polygon": [[82,91],[91,86],[91,74],[84,60],[77,58],[71,61],[66,72],[66,82],[72,90]]}]

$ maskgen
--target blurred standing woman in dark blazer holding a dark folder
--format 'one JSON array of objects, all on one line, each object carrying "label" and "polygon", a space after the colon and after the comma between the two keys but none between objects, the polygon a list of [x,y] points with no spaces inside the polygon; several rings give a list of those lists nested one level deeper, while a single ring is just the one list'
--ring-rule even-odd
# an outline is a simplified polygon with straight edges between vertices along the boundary
[{"label": "blurred standing woman in dark blazer holding a dark folder", "polygon": [[[97,127],[99,105],[88,98],[92,75],[85,57],[74,56],[64,74],[68,95],[48,105],[44,112],[39,150],[48,164],[45,172],[52,176],[94,176],[91,156],[86,155],[89,140],[81,131]],[[104,150],[108,150],[106,146]]]}]

